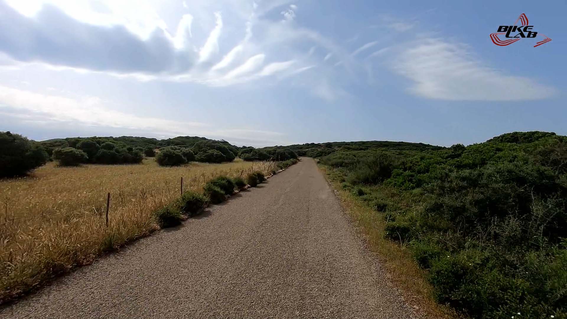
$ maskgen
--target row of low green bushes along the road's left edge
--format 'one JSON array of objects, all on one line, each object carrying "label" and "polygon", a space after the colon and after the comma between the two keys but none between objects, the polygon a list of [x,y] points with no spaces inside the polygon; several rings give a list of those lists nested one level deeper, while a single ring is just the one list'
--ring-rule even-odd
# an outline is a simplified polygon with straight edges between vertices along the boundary
[{"label": "row of low green bushes along the road's left edge", "polygon": [[[253,187],[264,180],[264,174],[261,172],[254,172],[248,176],[248,183]],[[181,224],[184,215],[194,216],[209,203],[222,203],[227,195],[232,195],[235,188],[243,188],[244,186],[246,186],[246,183],[240,177],[229,178],[221,175],[205,184],[203,194],[193,191],[184,192],[183,196],[174,200],[174,202],[158,209],[154,216],[162,228],[176,226]]]}]

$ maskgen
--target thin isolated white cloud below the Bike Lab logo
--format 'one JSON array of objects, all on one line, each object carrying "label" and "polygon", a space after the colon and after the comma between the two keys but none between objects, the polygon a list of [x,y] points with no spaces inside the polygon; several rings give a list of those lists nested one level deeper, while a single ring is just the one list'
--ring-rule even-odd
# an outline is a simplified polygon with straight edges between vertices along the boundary
[{"label": "thin isolated white cloud below the Bike Lab logo", "polygon": [[420,40],[404,49],[393,69],[414,81],[411,92],[443,100],[531,100],[555,89],[527,77],[507,75],[473,58],[463,44]]}]

